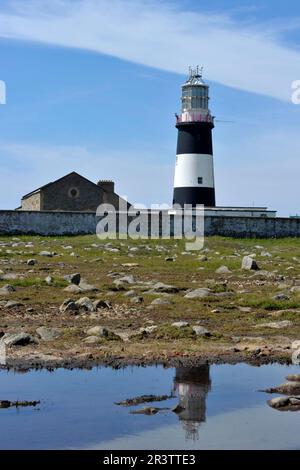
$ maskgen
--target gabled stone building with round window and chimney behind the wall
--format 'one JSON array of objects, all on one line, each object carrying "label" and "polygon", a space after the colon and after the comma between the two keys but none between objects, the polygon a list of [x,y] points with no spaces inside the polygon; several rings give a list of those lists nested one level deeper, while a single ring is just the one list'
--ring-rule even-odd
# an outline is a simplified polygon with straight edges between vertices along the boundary
[{"label": "gabled stone building with round window and chimney behind the wall", "polygon": [[73,171],[23,196],[16,210],[96,212],[103,203],[117,209],[120,200],[125,200],[115,193],[114,186],[113,181],[95,184]]}]

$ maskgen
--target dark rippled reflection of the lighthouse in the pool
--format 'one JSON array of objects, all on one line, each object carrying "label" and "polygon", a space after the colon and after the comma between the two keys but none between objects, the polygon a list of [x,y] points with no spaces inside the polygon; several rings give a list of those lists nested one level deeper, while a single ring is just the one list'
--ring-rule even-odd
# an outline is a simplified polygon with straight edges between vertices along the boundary
[{"label": "dark rippled reflection of the lighthouse in the pool", "polygon": [[178,418],[186,432],[186,439],[199,438],[199,427],[206,420],[206,396],[210,388],[209,365],[176,368],[174,392],[178,394]]}]

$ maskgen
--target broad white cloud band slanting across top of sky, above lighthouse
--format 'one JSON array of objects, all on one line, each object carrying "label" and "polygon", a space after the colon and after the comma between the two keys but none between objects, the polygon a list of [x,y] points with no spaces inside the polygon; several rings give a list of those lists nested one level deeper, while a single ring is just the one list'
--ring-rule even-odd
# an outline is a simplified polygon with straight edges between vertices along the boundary
[{"label": "broad white cloud band slanting across top of sky, above lighthouse", "polygon": [[[295,27],[297,19],[285,21]],[[205,64],[207,78],[289,101],[300,52],[280,43],[282,27],[186,11],[161,0],[14,0],[0,7],[0,37],[87,49],[184,73]]]}]

